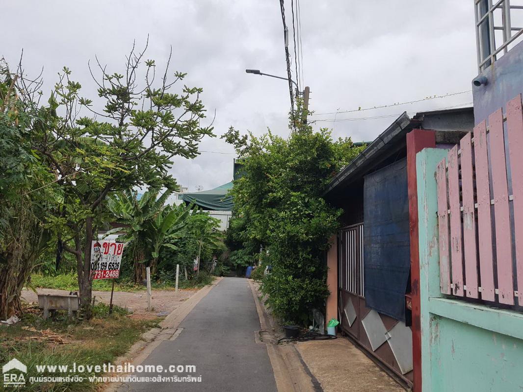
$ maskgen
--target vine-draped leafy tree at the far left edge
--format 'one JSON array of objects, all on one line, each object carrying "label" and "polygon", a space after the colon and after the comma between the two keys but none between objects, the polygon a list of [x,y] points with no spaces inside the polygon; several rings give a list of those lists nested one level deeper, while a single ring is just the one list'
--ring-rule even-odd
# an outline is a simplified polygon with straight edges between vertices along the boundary
[{"label": "vine-draped leafy tree at the far left edge", "polygon": [[[20,75],[0,61],[0,319],[21,313],[20,293],[48,248],[46,215],[56,200],[54,176],[31,145],[32,105],[20,99]],[[30,89],[20,76],[25,91]]]}]

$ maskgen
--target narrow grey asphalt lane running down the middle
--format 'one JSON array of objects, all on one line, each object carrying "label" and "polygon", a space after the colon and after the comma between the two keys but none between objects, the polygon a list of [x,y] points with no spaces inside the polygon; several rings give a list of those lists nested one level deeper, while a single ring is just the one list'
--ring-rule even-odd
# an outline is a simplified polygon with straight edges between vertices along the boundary
[{"label": "narrow grey asphalt lane running down the middle", "polygon": [[201,376],[201,382],[137,382],[119,391],[276,392],[276,382],[246,279],[224,278],[181,322],[173,341],[163,341],[142,365],[195,365],[196,373],[142,373],[141,376]]}]

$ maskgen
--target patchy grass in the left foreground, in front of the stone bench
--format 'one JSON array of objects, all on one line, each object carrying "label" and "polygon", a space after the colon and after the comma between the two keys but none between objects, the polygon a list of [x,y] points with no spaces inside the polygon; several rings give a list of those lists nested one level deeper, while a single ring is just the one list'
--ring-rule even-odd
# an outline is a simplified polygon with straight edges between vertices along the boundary
[{"label": "patchy grass in the left foreground, in front of the stone bench", "polygon": [[[89,321],[67,319],[60,314],[55,321],[43,320],[38,314],[26,313],[22,321],[12,326],[0,327],[0,363],[17,358],[27,366],[26,381],[29,377],[70,376],[85,377],[81,382],[28,382],[24,391],[94,391],[96,385],[90,383],[89,376],[100,375],[93,369],[90,373],[37,373],[35,365],[69,365],[73,362],[82,365],[103,365],[114,363],[118,356],[126,353],[140,335],[157,326],[160,318],[154,320],[135,320],[127,317],[126,309],[113,307],[108,316],[108,306],[98,304],[94,317]],[[47,338],[56,334],[65,344],[56,344]]]}]

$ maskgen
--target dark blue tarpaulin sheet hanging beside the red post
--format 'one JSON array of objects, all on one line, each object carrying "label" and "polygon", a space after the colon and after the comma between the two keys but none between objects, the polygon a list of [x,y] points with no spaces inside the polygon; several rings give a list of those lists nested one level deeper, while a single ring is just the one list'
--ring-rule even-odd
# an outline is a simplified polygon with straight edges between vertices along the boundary
[{"label": "dark blue tarpaulin sheet hanging beside the red post", "polygon": [[411,267],[406,159],[365,176],[363,259],[367,307],[405,321]]}]

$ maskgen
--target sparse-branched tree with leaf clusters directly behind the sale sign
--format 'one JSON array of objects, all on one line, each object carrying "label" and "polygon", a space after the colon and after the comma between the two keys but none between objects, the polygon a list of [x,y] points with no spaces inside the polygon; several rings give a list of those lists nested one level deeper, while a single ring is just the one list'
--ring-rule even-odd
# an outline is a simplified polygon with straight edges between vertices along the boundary
[{"label": "sparse-branched tree with leaf clusters directly behind the sale sign", "polygon": [[[133,187],[175,187],[167,172],[172,158],[196,157],[199,141],[212,135],[212,126],[200,125],[205,118],[202,89],[183,86],[172,92],[186,74],[170,73],[167,62],[158,80],[155,61],[145,60],[144,54],[133,47],[123,74],[99,65],[101,76],[95,80],[101,105],[80,96],[81,85],[64,67],[49,105],[32,124],[33,148],[56,174],[63,192],[50,223],[64,239],[64,250],[76,257],[86,318],[92,297],[92,240],[111,219],[107,195]],[[142,84],[137,75],[145,75]],[[81,116],[86,110],[93,116]],[[68,245],[69,238],[74,246]]]}]

